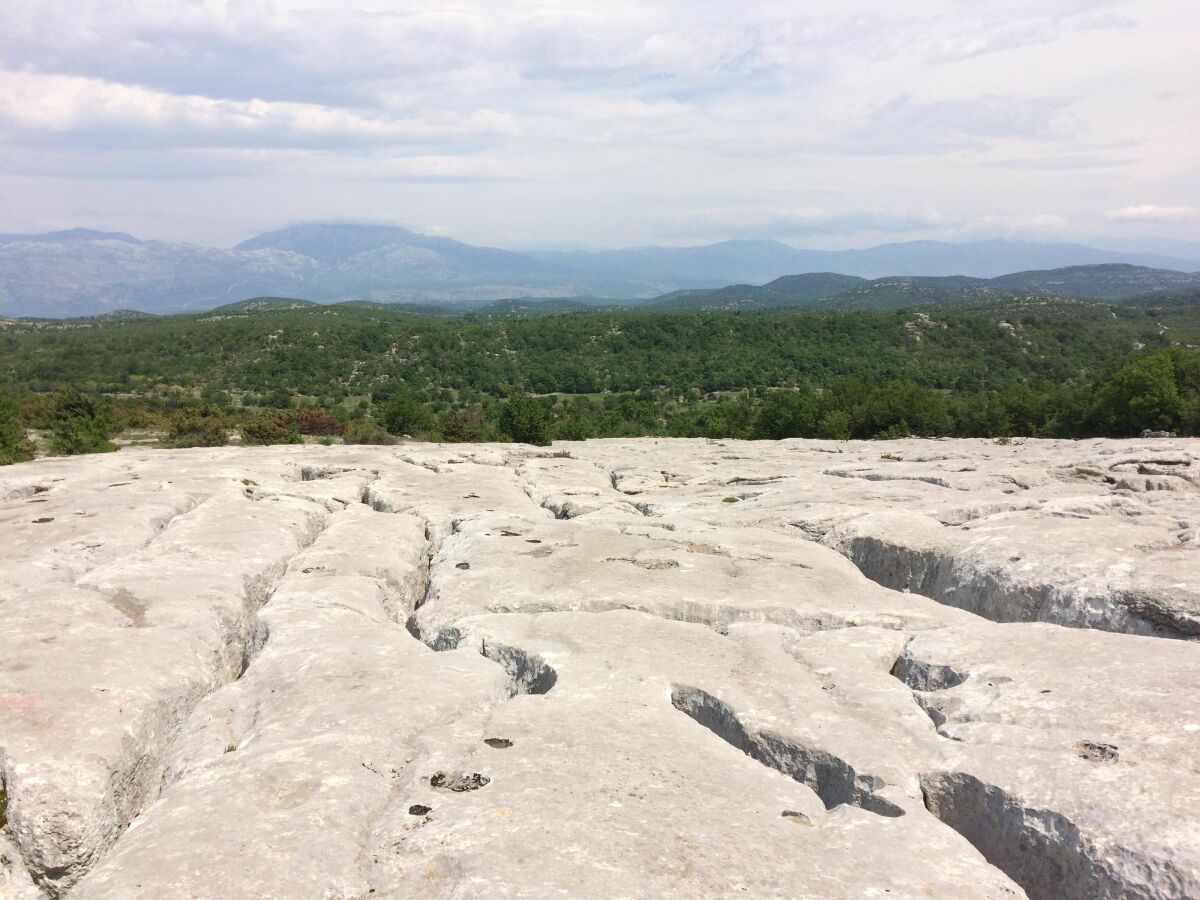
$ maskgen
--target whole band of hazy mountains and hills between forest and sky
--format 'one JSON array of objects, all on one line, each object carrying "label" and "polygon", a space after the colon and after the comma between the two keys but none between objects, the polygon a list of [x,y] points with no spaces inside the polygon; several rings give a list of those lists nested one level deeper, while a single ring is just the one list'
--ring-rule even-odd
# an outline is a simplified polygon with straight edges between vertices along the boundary
[{"label": "whole band of hazy mountains and hills between forest and sky", "polygon": [[[1109,272],[1110,290],[1120,292],[1114,296],[1170,289],[1175,283],[1189,287],[1186,282],[1195,276],[1188,272],[1200,269],[1196,258],[1006,240],[910,241],[847,251],[799,250],[761,240],[516,252],[394,226],[317,223],[268,232],[232,248],[214,248],[80,228],[0,235],[0,316],[61,318],[119,308],[198,312],[263,295],[460,308],[511,298],[521,302],[611,298],[622,305],[654,300],[680,308],[739,308],[743,304],[769,308],[821,305],[836,296],[833,306],[854,308],[856,295],[866,306],[887,298],[892,298],[887,302],[906,305],[906,294],[929,296],[942,289],[982,296],[1013,290],[1067,294],[1072,284],[1062,282],[1052,289],[1046,278],[1072,276],[1048,276],[1045,270],[1118,264],[1145,270]],[[1004,283],[997,277],[1014,271],[1030,275],[1027,270],[1042,272],[1040,281],[1034,278],[1032,286],[1022,287],[1024,282]],[[1147,274],[1150,270],[1159,274]],[[1160,270],[1176,271],[1163,275]],[[930,282],[930,276],[937,276],[934,281],[938,283]],[[1080,284],[1096,282],[1093,275],[1074,277]],[[1145,289],[1127,289],[1139,281]],[[763,282],[761,288],[752,287]],[[712,290],[728,284],[733,287]],[[847,292],[850,296],[845,296]]]}]

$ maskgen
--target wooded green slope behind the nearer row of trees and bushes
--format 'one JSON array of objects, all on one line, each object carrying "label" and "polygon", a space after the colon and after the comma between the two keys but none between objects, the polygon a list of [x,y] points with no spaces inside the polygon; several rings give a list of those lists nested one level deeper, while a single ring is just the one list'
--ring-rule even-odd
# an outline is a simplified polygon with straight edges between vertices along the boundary
[{"label": "wooded green slope behind the nearer row of trees and bushes", "polygon": [[334,403],[400,379],[504,395],[821,385],[908,378],[953,390],[1067,382],[1139,348],[1200,344],[1200,293],[1106,305],[1002,300],[923,312],[572,312],[434,318],[250,305],[198,316],[0,325],[0,389],[154,395],[287,391]]}]

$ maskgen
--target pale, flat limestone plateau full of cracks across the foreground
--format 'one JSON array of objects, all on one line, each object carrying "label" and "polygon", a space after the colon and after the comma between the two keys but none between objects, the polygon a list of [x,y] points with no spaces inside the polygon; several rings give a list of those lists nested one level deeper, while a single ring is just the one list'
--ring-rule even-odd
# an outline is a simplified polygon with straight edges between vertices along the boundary
[{"label": "pale, flat limestone plateau full of cracks across the foreground", "polygon": [[1200,440],[0,470],[0,896],[1200,896]]}]

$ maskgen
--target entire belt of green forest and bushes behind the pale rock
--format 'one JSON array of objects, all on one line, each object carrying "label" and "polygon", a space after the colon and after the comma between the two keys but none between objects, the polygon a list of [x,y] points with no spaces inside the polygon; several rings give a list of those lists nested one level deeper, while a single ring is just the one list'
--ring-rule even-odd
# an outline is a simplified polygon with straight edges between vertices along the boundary
[{"label": "entire belt of green forest and bushes behind the pale rock", "polygon": [[874,312],[307,306],[0,323],[0,462],[170,445],[1200,433],[1200,294]]}]

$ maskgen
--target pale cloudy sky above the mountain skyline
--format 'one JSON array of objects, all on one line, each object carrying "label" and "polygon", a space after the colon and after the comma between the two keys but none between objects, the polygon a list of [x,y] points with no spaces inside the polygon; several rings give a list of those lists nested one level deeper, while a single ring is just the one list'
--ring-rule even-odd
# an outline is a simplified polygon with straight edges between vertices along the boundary
[{"label": "pale cloudy sky above the mountain skyline", "polygon": [[0,0],[0,232],[1200,242],[1195,0]]}]

